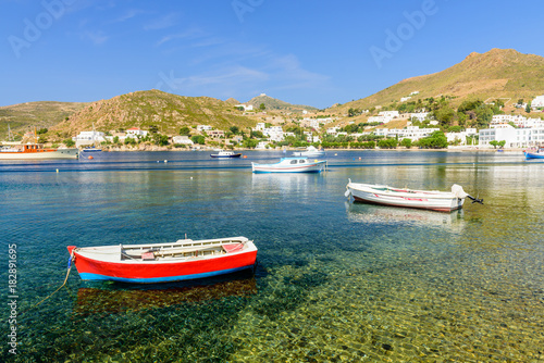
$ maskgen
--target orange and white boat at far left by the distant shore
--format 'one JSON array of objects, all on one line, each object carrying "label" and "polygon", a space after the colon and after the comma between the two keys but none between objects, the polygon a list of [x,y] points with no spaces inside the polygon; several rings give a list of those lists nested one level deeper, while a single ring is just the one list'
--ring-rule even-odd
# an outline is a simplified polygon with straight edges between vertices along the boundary
[{"label": "orange and white boat at far left by the distant shore", "polygon": [[77,148],[48,148],[42,143],[25,143],[0,149],[0,160],[77,159]]}]

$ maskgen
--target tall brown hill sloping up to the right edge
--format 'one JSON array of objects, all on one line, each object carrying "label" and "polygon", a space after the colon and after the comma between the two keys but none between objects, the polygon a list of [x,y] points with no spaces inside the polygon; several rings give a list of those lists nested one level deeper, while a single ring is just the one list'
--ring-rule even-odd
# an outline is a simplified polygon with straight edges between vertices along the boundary
[{"label": "tall brown hill sloping up to the right edge", "polygon": [[370,97],[333,107],[327,111],[347,113],[349,108],[370,109],[430,97],[450,96],[453,104],[465,100],[503,98],[506,105],[518,99],[526,101],[544,93],[544,58],[522,54],[514,49],[492,49],[486,53],[470,53],[462,62],[442,72],[407,78]]}]

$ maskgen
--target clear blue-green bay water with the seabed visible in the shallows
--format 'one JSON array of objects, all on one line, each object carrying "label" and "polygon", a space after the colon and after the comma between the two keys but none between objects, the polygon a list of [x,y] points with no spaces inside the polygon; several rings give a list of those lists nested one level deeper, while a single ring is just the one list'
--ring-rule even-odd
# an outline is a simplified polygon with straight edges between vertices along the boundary
[{"label": "clear blue-green bay water with the seabed visible in the shallows", "polygon": [[[254,175],[205,152],[0,164],[2,265],[17,245],[14,362],[542,362],[544,164],[519,153],[329,152],[321,175]],[[360,158],[360,160],[359,160]],[[164,163],[168,160],[168,163]],[[59,170],[59,173],[55,170]],[[463,186],[452,214],[347,202],[347,179]],[[246,236],[255,276],[63,281],[66,246]],[[0,270],[8,300],[8,268]],[[9,311],[2,303],[2,328]],[[5,337],[5,335],[4,335]]]}]

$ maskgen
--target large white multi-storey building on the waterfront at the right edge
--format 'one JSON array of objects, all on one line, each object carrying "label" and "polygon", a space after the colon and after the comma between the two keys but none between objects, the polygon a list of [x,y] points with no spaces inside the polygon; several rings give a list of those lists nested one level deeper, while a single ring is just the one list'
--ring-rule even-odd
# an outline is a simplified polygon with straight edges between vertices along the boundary
[{"label": "large white multi-storey building on the waterfront at the right edge", "polygon": [[544,127],[486,128],[480,130],[481,147],[492,147],[491,141],[506,141],[506,148],[530,148],[544,146]]}]

